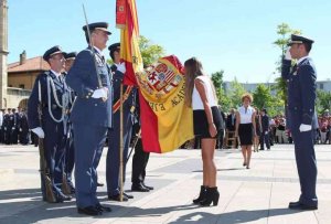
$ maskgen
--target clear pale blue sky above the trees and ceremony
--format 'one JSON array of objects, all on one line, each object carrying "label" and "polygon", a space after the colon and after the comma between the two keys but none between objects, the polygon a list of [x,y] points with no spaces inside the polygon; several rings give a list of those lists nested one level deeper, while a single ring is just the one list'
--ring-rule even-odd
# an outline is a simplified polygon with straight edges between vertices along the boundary
[{"label": "clear pale blue sky above the trees and ceremony", "polygon": [[[318,79],[331,78],[330,0],[136,0],[140,34],[161,45],[182,63],[199,57],[206,73],[224,70],[224,79],[273,82],[280,50],[273,45],[277,25],[286,22],[316,43],[311,51]],[[61,45],[64,51],[86,46],[82,26],[85,4],[89,22],[107,21],[113,35],[115,0],[8,0],[9,58],[42,55]],[[105,55],[108,53],[105,51]]]}]

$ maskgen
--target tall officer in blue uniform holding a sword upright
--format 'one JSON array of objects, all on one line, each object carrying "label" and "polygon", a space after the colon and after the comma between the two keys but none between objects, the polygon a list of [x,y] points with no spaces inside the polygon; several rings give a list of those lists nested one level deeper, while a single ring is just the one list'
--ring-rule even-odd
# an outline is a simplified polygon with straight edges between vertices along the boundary
[{"label": "tall officer in blue uniform holding a sword upright", "polygon": [[96,167],[107,129],[111,127],[111,76],[102,53],[110,35],[107,28],[106,22],[83,26],[89,46],[78,53],[66,76],[67,84],[77,95],[71,113],[75,145],[76,205],[78,213],[87,215],[111,211],[99,203],[96,194]]}]

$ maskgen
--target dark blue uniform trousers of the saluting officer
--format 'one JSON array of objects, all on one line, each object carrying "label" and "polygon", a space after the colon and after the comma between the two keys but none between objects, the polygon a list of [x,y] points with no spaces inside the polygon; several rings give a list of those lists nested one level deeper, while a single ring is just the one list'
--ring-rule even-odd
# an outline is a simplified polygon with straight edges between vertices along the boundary
[{"label": "dark blue uniform trousers of the saluting officer", "polygon": [[297,169],[300,179],[301,195],[299,201],[302,204],[316,206],[318,199],[316,195],[317,162],[313,149],[313,131],[300,132],[302,124],[301,114],[298,110],[290,110],[291,134],[295,140],[295,153]]}]

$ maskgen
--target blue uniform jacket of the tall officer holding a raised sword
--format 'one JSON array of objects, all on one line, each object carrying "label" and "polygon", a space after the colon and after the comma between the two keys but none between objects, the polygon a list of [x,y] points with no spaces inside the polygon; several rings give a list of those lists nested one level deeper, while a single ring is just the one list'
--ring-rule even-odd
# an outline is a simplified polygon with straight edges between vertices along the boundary
[{"label": "blue uniform jacket of the tall officer holding a raised sword", "polygon": [[[95,67],[90,47],[83,50],[78,53],[72,68],[68,71],[66,83],[77,95],[73,105],[71,120],[83,125],[111,128],[111,74],[102,55],[97,52],[95,52],[95,60],[97,68]],[[92,98],[93,92],[99,88],[97,75],[102,79],[102,85],[108,88],[106,102],[102,98]]]}]

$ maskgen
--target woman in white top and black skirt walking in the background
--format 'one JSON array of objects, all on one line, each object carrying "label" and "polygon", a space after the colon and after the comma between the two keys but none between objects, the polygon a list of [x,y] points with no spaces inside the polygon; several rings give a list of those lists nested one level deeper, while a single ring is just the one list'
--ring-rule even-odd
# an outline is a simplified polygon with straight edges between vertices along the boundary
[{"label": "woman in white top and black skirt walking in the background", "polygon": [[239,136],[242,153],[244,157],[243,166],[249,169],[253,139],[256,137],[255,109],[250,107],[253,97],[250,94],[242,96],[243,106],[236,113],[236,132]]}]

